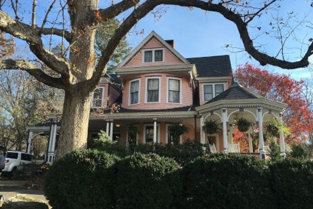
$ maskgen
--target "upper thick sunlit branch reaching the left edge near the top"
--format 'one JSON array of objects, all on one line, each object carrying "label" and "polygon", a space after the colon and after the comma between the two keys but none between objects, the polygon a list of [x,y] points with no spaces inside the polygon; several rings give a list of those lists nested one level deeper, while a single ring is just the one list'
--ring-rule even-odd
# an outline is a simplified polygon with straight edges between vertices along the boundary
[{"label": "upper thick sunlit branch reaching the left edge near the top", "polygon": [[0,30],[28,42],[30,50],[49,68],[62,75],[68,75],[68,70],[70,69],[69,63],[45,48],[37,28],[33,28],[20,21],[15,21],[8,14],[0,10]]}]

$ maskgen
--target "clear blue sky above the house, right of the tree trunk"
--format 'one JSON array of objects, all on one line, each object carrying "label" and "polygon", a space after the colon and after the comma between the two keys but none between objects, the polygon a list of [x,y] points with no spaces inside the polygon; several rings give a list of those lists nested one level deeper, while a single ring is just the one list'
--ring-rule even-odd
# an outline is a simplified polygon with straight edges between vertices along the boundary
[{"label": "clear blue sky above the house, right of the tree trunk", "polygon": [[[300,21],[305,16],[309,14],[308,20],[313,19],[311,14],[313,8],[310,7],[309,0],[293,0],[293,1],[283,1],[285,3],[279,13],[279,17],[283,17],[290,12],[296,16]],[[292,5],[292,7],[291,7]],[[294,5],[299,5],[297,8],[293,8]],[[179,6],[162,6],[166,9],[166,12],[162,13],[160,19],[155,18],[152,14],[146,16],[140,20],[134,30],[140,31],[144,29],[144,34],[134,35],[130,33],[127,40],[130,44],[135,47],[139,44],[143,38],[145,38],[152,30],[156,31],[164,40],[175,41],[175,48],[178,52],[186,57],[206,57],[215,55],[228,54],[231,59],[232,68],[236,68],[236,64],[244,64],[246,62],[253,63],[261,69],[267,69],[270,72],[278,72],[290,74],[292,78],[296,80],[312,77],[312,70],[309,68],[285,70],[274,66],[260,66],[258,62],[254,59],[249,59],[246,52],[237,52],[238,49],[224,47],[225,44],[230,44],[234,47],[242,48],[243,44],[240,40],[239,33],[236,29],[234,23],[227,21],[224,17],[217,13],[204,12],[199,9],[190,10],[189,8],[179,7]],[[261,19],[256,19],[254,21],[254,26],[262,26],[262,30],[259,31],[256,28],[251,29],[251,34],[253,36],[258,36],[257,42],[264,44],[263,50],[275,56],[280,48],[277,40],[273,39],[274,33],[266,35],[265,32],[269,32],[269,22],[271,17],[276,17],[277,13],[272,11],[271,14],[264,15]],[[286,20],[286,17],[283,17]],[[284,20],[284,21],[285,21]],[[292,22],[296,24],[297,22]],[[310,30],[306,27],[308,24],[304,24],[304,27],[300,26],[299,30],[295,30],[296,33],[300,34],[297,36],[299,40],[309,39],[308,33]],[[306,29],[306,30],[303,30]],[[300,30],[301,29],[301,30]],[[313,29],[311,29],[311,34]],[[300,52],[296,47],[299,47],[299,43],[294,41],[290,37],[290,44],[287,46],[287,58],[296,59],[300,56]],[[233,52],[231,52],[233,51]]]}]

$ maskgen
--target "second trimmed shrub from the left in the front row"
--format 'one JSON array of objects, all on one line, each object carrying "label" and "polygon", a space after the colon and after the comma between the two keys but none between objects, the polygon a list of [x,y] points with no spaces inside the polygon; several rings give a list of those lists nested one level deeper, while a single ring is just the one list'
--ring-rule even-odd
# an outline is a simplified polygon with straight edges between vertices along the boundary
[{"label": "second trimmed shrub from the left in the front row", "polygon": [[135,153],[115,164],[114,197],[118,209],[176,208],[180,166],[156,154]]}]

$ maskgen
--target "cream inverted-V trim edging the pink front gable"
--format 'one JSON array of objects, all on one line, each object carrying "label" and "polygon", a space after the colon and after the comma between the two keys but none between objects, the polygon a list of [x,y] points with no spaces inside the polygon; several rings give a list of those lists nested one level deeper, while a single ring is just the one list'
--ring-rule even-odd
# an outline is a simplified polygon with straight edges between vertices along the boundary
[{"label": "cream inverted-V trim edging the pink front gable", "polygon": [[141,48],[145,46],[151,39],[156,38],[157,41],[162,43],[172,54],[174,54],[181,62],[189,64],[189,62],[176,51],[170,44],[164,41],[155,31],[152,31],[119,65],[116,69],[122,68],[126,63],[130,62],[133,57],[140,52]]}]

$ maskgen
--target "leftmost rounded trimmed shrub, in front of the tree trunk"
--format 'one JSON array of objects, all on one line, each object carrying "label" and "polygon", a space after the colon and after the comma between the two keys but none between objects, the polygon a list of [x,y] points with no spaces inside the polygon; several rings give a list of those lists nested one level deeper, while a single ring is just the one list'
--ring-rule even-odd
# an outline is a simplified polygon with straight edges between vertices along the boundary
[{"label": "leftmost rounded trimmed shrub, in front of the tree trunk", "polygon": [[112,165],[116,156],[98,150],[74,151],[49,169],[44,191],[53,209],[112,206]]}]

